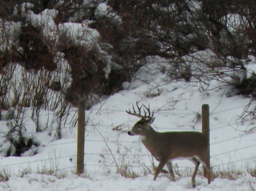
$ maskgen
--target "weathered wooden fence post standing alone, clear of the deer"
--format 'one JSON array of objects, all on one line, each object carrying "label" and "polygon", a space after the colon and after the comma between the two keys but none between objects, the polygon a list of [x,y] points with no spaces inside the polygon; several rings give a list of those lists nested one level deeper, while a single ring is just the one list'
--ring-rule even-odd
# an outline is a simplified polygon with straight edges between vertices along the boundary
[{"label": "weathered wooden fence post standing alone, clear of the deer", "polygon": [[84,101],[78,103],[78,128],[77,128],[77,159],[76,174],[84,173],[84,132],[85,132],[85,107]]}]

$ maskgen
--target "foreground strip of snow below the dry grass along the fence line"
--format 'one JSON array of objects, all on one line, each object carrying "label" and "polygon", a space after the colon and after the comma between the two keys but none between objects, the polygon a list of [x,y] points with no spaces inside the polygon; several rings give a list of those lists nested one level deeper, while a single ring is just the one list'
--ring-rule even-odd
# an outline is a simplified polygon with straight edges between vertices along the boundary
[{"label": "foreground strip of snow below the dry grass along the fence line", "polygon": [[54,176],[27,174],[23,178],[11,177],[8,182],[1,182],[4,191],[253,191],[255,178],[244,174],[238,180],[215,179],[210,185],[197,178],[198,185],[192,188],[190,178],[184,177],[177,182],[170,182],[166,177],[153,182],[152,176],[130,179],[118,174],[97,175],[95,178],[83,178],[70,174],[58,179]]}]

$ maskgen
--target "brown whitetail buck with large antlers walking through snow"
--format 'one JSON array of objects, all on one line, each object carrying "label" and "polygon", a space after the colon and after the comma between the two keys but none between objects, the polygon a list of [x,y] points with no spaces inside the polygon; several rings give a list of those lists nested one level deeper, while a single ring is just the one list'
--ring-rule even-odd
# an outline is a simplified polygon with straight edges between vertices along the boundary
[{"label": "brown whitetail buck with large antlers walking through snow", "polygon": [[[150,124],[154,122],[154,112],[151,115],[149,105],[139,106],[136,103],[138,112],[126,110],[128,114],[141,117],[134,127],[128,131],[129,135],[140,135],[140,140],[148,151],[159,161],[159,165],[154,172],[154,180],[158,174],[167,165],[172,180],[175,181],[175,175],[172,169],[172,160],[188,159],[195,164],[195,171],[192,176],[192,186],[195,188],[195,176],[200,163],[207,169],[208,184],[211,182],[210,164],[207,160],[208,146],[206,135],[196,131],[178,131],[178,132],[157,132]],[[143,107],[144,115],[141,113]]]}]

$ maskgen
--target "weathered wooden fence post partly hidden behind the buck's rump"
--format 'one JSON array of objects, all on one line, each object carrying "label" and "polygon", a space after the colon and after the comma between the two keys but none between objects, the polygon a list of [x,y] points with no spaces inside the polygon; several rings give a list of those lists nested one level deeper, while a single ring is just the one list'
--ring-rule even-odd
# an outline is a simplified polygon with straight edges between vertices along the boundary
[{"label": "weathered wooden fence post partly hidden behind the buck's rump", "polygon": [[[208,156],[207,160],[210,164],[210,120],[209,120],[209,105],[202,105],[202,132],[208,139]],[[206,169],[204,168],[204,176],[206,177]]]}]

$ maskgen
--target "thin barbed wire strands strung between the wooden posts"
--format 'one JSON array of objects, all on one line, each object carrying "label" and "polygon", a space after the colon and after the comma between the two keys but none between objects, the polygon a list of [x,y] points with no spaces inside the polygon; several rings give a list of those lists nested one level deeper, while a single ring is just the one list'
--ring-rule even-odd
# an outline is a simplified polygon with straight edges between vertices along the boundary
[{"label": "thin barbed wire strands strung between the wooden posts", "polygon": [[[210,115],[218,114],[218,113],[222,113],[222,112],[226,112],[226,111],[231,111],[233,109],[242,108],[244,106],[246,106],[246,105],[233,107],[233,108],[228,108],[228,109],[225,109],[225,110],[222,110],[222,111],[212,112],[212,113],[210,113]],[[97,109],[94,109],[94,110],[97,110]],[[102,112],[125,112],[123,110],[118,110],[118,109],[101,109],[101,111]],[[158,113],[159,114],[189,115],[189,113],[174,113],[174,112],[167,112],[167,111],[158,111]],[[247,119],[247,120],[244,120],[244,122],[251,121],[251,120],[253,120],[253,119]],[[217,127],[214,127],[214,128],[210,128],[210,132],[220,130],[221,128],[232,127],[233,125],[239,125],[239,124],[240,124],[240,122],[234,122],[234,123],[230,123],[230,124],[226,124],[226,125],[217,126]],[[113,125],[113,124],[93,124],[92,122],[90,122],[90,123],[87,123],[87,126],[115,128],[117,125]],[[122,124],[121,126],[122,126],[122,128],[129,128],[128,125]],[[162,127],[162,128],[158,128],[158,129],[168,129],[169,131],[172,131],[172,130],[191,130],[191,128],[169,128],[169,127]],[[4,135],[6,133],[7,132],[0,132],[0,138],[4,137]],[[32,134],[32,133],[34,133],[34,132],[25,132],[24,134]],[[210,146],[217,145],[217,144],[228,143],[231,140],[241,139],[242,137],[247,137],[247,136],[250,136],[252,134],[253,135],[256,134],[256,131],[251,131],[250,133],[243,133],[243,134],[240,134],[236,137],[231,137],[231,138],[227,138],[227,139],[223,139],[223,140],[218,140],[214,143],[211,143]],[[106,143],[137,144],[138,141],[139,140],[136,140],[136,141],[109,140],[109,139],[108,140],[104,140],[104,139],[101,139],[101,140],[97,139],[96,140],[96,139],[87,139],[87,137],[84,139],[85,145],[86,145],[86,143],[89,143],[89,142],[102,143],[102,144],[106,144]],[[69,144],[76,145],[77,140],[64,142],[64,143],[52,143],[52,144],[49,144],[49,145],[39,145],[38,149],[39,148],[54,147],[54,146],[57,146],[57,145],[65,146],[65,145],[69,145]],[[211,155],[210,157],[219,157],[221,155],[230,154],[230,153],[240,151],[240,150],[244,150],[244,149],[252,149],[252,148],[254,149],[255,147],[256,147],[256,143],[253,143],[251,145],[241,146],[240,148],[233,148],[233,149],[230,149],[230,150],[227,150],[227,151],[224,151],[224,152],[222,151],[222,152],[219,152],[217,154]],[[109,152],[98,152],[98,153],[97,152],[95,152],[95,153],[94,152],[85,152],[84,156],[85,156],[85,163],[84,163],[85,167],[116,168],[116,165],[118,165],[120,168],[127,168],[127,167],[129,167],[129,168],[146,168],[148,171],[150,171],[150,169],[154,168],[152,163],[151,164],[142,163],[142,164],[133,165],[133,164],[129,164],[129,162],[125,163],[122,160],[121,160],[121,163],[113,163],[113,161],[111,161],[111,160],[109,162],[105,162],[105,163],[100,163],[100,162],[98,162],[98,163],[97,162],[89,163],[89,162],[86,161],[86,158],[89,157],[89,156],[103,156],[103,157],[116,157],[116,158],[122,158],[122,157],[151,157],[150,154],[137,154],[137,153],[136,154],[128,154],[128,153],[114,153],[113,154],[113,153],[109,153]],[[28,166],[29,164],[34,163],[34,162],[44,163],[44,162],[55,161],[55,160],[71,160],[71,159],[76,158],[76,157],[77,157],[76,154],[72,154],[72,155],[67,155],[67,156],[53,156],[53,157],[47,157],[45,159],[37,159],[37,160],[33,160],[33,161],[17,162],[17,163],[10,163],[10,164],[1,164],[1,162],[0,162],[0,169],[5,169],[5,168],[9,168],[9,167],[14,167],[14,166],[20,166],[20,165]],[[243,161],[254,160],[254,159],[256,160],[256,155],[253,156],[253,157],[244,157],[244,158],[241,158],[241,159],[232,160],[232,161],[229,161],[229,162],[212,165],[211,167],[212,168],[218,168],[218,167],[221,167],[221,166],[224,166],[224,165],[230,165],[230,164],[234,164],[234,163],[237,163],[237,162],[243,162]],[[179,172],[186,171],[188,169],[191,170],[191,167],[185,167],[185,166],[179,166],[178,168],[179,168],[179,170],[178,170]],[[72,165],[72,166],[65,167],[65,168],[52,169],[52,171],[54,171],[54,172],[75,171],[75,169],[76,169],[76,165]],[[38,170],[36,170],[36,171],[38,171]]]}]

